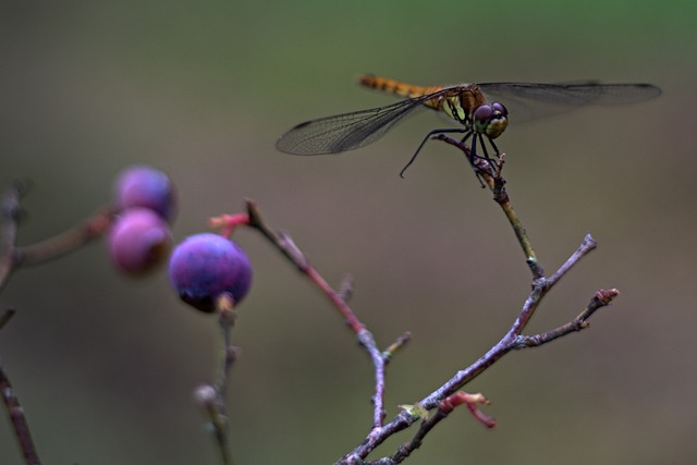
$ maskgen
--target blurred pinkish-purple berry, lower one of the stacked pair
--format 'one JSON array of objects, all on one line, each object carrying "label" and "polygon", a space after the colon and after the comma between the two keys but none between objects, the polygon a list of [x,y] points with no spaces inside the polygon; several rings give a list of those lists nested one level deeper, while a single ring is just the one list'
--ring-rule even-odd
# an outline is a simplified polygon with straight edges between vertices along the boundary
[{"label": "blurred pinkish-purple berry, lower one of the stacked pair", "polygon": [[161,264],[172,248],[168,223],[147,208],[129,208],[108,236],[111,260],[130,274],[143,274]]}]

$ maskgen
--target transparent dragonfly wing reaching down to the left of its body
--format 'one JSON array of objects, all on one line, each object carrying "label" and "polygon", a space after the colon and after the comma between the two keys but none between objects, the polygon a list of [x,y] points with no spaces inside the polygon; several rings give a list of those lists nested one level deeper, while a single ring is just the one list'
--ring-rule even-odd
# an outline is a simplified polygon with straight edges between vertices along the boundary
[{"label": "transparent dragonfly wing reaching down to the left of its body", "polygon": [[339,154],[372,144],[430,96],[402,100],[387,107],[307,121],[283,134],[276,147],[293,155]]}]

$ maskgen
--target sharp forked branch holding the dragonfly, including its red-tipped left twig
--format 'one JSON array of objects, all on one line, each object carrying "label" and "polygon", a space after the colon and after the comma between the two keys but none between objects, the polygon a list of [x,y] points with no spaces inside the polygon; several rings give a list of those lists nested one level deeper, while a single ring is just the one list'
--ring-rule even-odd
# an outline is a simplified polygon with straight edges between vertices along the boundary
[{"label": "sharp forked branch holding the dragonfly, including its red-tipped left twig", "polygon": [[[511,351],[540,346],[566,335],[570,332],[580,331],[582,329],[587,328],[588,318],[590,318],[598,308],[609,305],[617,295],[617,291],[614,289],[598,291],[586,309],[584,309],[584,311],[582,311],[574,320],[540,334],[523,334],[524,329],[533,318],[536,309],[539,307],[539,304],[542,302],[547,293],[571,270],[575,264],[580,260],[580,258],[586,256],[596,247],[596,242],[589,234],[587,234],[582,244],[568,257],[568,259],[550,278],[546,278],[543,268],[539,264],[533,244],[527,236],[525,228],[523,228],[522,222],[515,213],[511,198],[505,189],[506,183],[501,175],[503,167],[502,158],[499,159],[498,162],[494,162],[493,160],[473,157],[469,147],[457,139],[453,139],[444,134],[439,134],[435,136],[435,138],[458,147],[473,166],[475,174],[482,183],[482,186],[488,186],[492,192],[493,199],[501,207],[508,218],[518,244],[525,254],[526,264],[533,274],[533,289],[509,331],[497,344],[479,357],[479,359],[467,368],[457,371],[450,380],[444,382],[440,388],[428,394],[423,400],[415,404],[403,406],[402,412],[387,424],[384,423],[383,409],[384,367],[394,352],[408,341],[411,334],[405,333],[390,345],[388,350],[379,352],[372,334],[365,328],[356,317],[355,313],[346,304],[346,298],[351,295],[352,286],[346,284],[344,281],[341,286],[341,291],[334,291],[309,264],[305,254],[303,254],[303,252],[295,245],[289,233],[276,232],[267,225],[267,223],[261,219],[256,205],[252,200],[247,200],[246,216],[237,215],[220,217],[213,220],[213,224],[222,227],[227,232],[232,232],[234,227],[237,224],[246,224],[260,231],[293,265],[295,265],[301,272],[307,276],[322,291],[322,293],[342,315],[346,325],[356,333],[358,341],[370,355],[376,379],[372,428],[364,441],[353,451],[341,457],[337,464],[399,464],[414,450],[416,450],[421,444],[426,435],[442,419],[448,417],[457,405],[466,405],[479,421],[488,427],[492,427],[494,425],[493,419],[479,412],[473,401],[473,394],[467,394],[460,390]],[[367,455],[378,448],[384,440],[394,433],[408,428],[417,421],[420,421],[417,432],[409,441],[403,443],[393,455],[384,456],[376,461],[366,461]]]}]

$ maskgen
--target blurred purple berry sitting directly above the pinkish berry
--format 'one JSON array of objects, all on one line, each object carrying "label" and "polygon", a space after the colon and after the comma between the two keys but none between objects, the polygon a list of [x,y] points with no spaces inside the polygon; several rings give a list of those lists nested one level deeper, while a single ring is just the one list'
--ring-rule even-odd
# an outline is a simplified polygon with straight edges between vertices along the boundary
[{"label": "blurred purple berry sitting directly above the pinkish berry", "polygon": [[160,170],[133,166],[121,172],[115,184],[120,208],[144,207],[170,223],[176,213],[176,193],[170,178]]}]

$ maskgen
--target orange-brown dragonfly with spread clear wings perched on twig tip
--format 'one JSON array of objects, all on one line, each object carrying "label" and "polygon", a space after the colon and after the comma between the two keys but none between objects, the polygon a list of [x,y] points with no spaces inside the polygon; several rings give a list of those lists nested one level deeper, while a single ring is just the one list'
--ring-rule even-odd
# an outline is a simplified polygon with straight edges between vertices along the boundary
[{"label": "orange-brown dragonfly with spread clear wings perched on twig tip", "polygon": [[[430,131],[400,175],[414,162],[427,140],[437,134],[463,134],[472,138],[470,161],[482,158],[494,164],[486,143],[497,159],[501,151],[494,139],[512,121],[554,115],[587,105],[614,106],[641,102],[661,94],[651,84],[578,83],[485,83],[452,86],[417,86],[366,74],[359,84],[402,97],[384,107],[353,111],[297,124],[283,134],[276,147],[292,155],[340,154],[365,147],[381,138],[407,115],[421,109],[435,110],[458,123],[457,127]],[[493,100],[497,99],[497,100]],[[505,101],[505,106],[501,101]],[[482,155],[478,154],[481,147]]]}]

